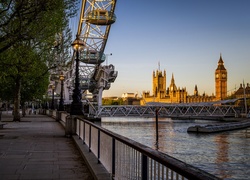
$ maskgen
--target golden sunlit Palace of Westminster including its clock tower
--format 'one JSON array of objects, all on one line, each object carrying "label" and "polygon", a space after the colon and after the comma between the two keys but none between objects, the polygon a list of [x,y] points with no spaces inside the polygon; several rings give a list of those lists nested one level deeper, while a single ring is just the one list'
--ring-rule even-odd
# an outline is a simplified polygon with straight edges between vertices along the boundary
[{"label": "golden sunlit Palace of Westminster including its clock tower", "polygon": [[195,85],[194,94],[188,95],[186,88],[176,86],[174,75],[167,87],[166,71],[153,71],[153,95],[149,91],[144,91],[140,104],[145,105],[148,102],[161,103],[197,103],[197,102],[211,102],[216,100],[223,100],[227,97],[227,70],[224,67],[224,62],[220,55],[217,69],[215,70],[215,92],[216,95],[211,96],[198,92],[198,87]]}]

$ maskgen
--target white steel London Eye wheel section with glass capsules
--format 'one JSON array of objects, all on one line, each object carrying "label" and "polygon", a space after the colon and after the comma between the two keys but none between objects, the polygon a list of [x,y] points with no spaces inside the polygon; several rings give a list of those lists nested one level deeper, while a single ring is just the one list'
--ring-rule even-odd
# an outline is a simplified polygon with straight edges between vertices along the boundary
[{"label": "white steel London Eye wheel section with glass capsules", "polygon": [[[79,83],[82,98],[97,110],[102,105],[102,92],[108,90],[117,77],[115,67],[102,65],[111,25],[115,23],[115,6],[117,0],[82,0],[79,15],[77,38],[83,41],[84,47],[79,52]],[[74,32],[73,32],[74,33]],[[74,52],[71,67],[67,71],[65,100],[72,96],[75,79]]]}]

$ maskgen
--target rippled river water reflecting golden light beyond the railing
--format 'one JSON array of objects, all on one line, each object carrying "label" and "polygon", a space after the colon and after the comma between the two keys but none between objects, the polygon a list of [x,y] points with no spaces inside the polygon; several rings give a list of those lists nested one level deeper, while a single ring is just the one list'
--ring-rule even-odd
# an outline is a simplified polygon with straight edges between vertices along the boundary
[{"label": "rippled river water reflecting golden light beyond the railing", "polygon": [[101,126],[222,179],[250,179],[250,128],[187,133],[189,126],[215,123],[220,122],[159,118],[158,143],[154,118],[103,117]]}]

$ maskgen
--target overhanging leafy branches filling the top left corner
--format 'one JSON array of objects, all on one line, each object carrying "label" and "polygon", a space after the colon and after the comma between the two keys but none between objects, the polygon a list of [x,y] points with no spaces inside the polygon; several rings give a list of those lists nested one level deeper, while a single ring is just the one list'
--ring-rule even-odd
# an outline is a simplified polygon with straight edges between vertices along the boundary
[{"label": "overhanging leafy branches filling the top left corner", "polygon": [[[16,43],[50,48],[67,25],[77,0],[6,0],[0,4],[0,53]],[[48,46],[50,45],[50,46]]]}]

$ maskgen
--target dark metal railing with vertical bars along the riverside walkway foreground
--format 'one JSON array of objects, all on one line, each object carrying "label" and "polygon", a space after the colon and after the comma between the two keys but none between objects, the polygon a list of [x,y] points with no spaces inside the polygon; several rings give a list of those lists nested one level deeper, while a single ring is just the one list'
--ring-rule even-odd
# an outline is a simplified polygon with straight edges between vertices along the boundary
[{"label": "dark metal railing with vertical bars along the riverside walkway foreground", "polygon": [[219,179],[85,119],[73,119],[75,133],[113,179]]}]

